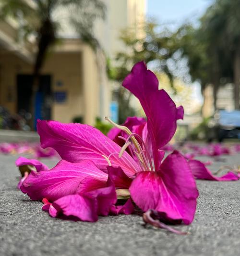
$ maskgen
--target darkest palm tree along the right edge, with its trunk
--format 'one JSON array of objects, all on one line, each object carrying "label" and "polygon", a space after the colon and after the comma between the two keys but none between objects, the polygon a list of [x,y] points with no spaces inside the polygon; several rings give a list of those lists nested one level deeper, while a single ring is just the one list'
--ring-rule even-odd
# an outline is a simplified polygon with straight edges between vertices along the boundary
[{"label": "darkest palm tree along the right edge, with its trunk", "polygon": [[216,0],[205,13],[209,41],[218,49],[222,76],[235,84],[235,109],[240,108],[240,0]]}]

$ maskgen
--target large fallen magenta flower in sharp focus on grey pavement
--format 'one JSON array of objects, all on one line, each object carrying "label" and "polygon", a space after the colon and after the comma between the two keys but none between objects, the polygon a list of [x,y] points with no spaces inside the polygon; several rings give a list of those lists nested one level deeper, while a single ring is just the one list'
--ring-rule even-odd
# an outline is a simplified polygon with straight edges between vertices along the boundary
[{"label": "large fallen magenta flower in sharp focus on grey pavement", "polygon": [[[164,158],[161,148],[173,137],[183,108],[158,89],[144,62],[134,65],[123,86],[139,99],[147,121],[133,117],[118,125],[106,118],[115,126],[108,136],[85,124],[38,121],[41,146],[55,149],[61,160],[48,170],[37,160],[19,158],[24,174],[19,187],[32,200],[42,200],[52,217],[96,221],[139,207],[146,223],[190,224],[198,197],[195,178],[219,178],[176,150]],[[228,172],[220,179],[238,177]]]}]

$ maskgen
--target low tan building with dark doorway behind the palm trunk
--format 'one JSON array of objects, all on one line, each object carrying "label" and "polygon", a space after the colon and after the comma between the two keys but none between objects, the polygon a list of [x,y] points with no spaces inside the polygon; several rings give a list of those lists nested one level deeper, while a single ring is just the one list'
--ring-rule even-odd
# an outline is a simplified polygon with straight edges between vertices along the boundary
[{"label": "low tan building with dark doorway behind the palm trunk", "polygon": [[[16,43],[17,29],[0,22],[0,105],[12,113],[29,111],[34,63],[34,45]],[[84,122],[94,124],[99,116],[99,74],[96,55],[89,46],[76,38],[63,38],[41,73],[44,98],[36,106],[39,118],[72,122],[82,116]]]}]

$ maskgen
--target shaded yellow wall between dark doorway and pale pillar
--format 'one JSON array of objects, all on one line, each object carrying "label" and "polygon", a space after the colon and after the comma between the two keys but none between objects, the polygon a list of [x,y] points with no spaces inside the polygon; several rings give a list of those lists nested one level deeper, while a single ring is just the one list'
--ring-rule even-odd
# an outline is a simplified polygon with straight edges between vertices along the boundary
[{"label": "shaded yellow wall between dark doorway and pale pillar", "polygon": [[[80,53],[54,53],[47,59],[42,73],[52,75],[53,91],[67,93],[66,102],[53,104],[52,119],[72,122],[75,116],[84,115],[81,69]],[[62,86],[57,86],[58,81]]]}]

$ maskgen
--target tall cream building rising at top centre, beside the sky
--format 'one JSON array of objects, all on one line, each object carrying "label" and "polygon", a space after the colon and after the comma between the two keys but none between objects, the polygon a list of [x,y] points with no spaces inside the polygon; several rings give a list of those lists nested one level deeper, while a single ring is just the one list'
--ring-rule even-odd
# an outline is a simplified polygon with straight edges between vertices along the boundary
[{"label": "tall cream building rising at top centre, beside the sky", "polygon": [[96,24],[96,37],[111,59],[116,53],[126,51],[121,42],[121,31],[131,28],[137,37],[143,36],[146,17],[146,0],[103,0],[107,6],[105,21]]}]

